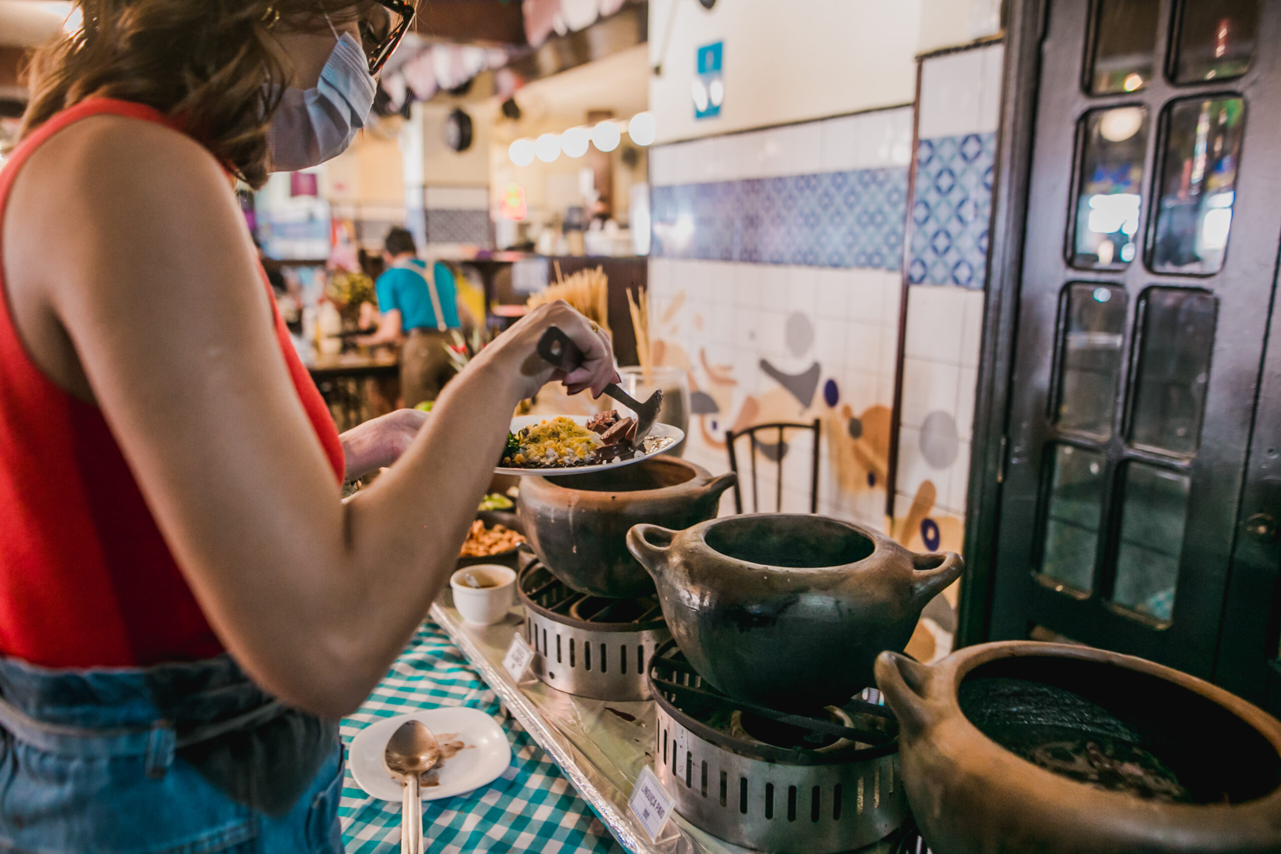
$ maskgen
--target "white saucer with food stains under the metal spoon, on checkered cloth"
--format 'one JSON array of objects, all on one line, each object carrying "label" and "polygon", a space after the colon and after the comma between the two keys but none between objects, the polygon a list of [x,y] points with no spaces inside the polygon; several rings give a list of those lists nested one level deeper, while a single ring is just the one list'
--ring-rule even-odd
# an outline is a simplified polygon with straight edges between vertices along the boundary
[{"label": "white saucer with food stains under the metal spoon, on checkered cloth", "polygon": [[[511,745],[507,734],[493,718],[462,705],[423,709],[412,714],[374,721],[356,734],[347,746],[347,764],[356,785],[374,798],[400,800],[400,778],[392,776],[383,761],[387,740],[405,721],[421,721],[445,744],[445,736],[461,741],[465,746],[438,766],[438,786],[421,786],[423,800],[452,798],[479,789],[497,780],[511,764]],[[430,773],[430,772],[429,772]]]}]

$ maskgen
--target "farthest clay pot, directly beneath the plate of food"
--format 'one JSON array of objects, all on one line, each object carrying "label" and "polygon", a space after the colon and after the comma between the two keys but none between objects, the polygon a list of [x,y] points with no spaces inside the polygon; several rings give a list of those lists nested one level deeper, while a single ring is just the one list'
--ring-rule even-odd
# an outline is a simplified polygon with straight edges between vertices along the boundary
[{"label": "farthest clay pot, directly beneath the plate of food", "polygon": [[526,476],[516,511],[529,545],[557,579],[591,595],[639,597],[653,593],[653,581],[628,552],[628,529],[715,519],[734,480],[658,456],[582,475]]}]

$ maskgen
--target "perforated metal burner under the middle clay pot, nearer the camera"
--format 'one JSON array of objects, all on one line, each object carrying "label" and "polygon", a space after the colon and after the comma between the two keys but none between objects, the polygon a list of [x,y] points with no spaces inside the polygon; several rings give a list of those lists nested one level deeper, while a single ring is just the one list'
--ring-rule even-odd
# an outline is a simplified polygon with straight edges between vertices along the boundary
[{"label": "perforated metal burner under the middle clay pot, nearer the camera", "polygon": [[708,834],[760,851],[834,854],[908,819],[898,725],[875,690],[815,716],[776,712],[703,682],[675,643],[655,656],[649,681],[658,778]]}]

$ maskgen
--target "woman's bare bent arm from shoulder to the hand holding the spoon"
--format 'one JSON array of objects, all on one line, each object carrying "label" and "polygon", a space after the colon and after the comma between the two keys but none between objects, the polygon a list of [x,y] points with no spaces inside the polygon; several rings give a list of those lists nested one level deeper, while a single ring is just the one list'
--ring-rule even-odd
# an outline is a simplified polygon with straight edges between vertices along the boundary
[{"label": "woman's bare bent arm from shoulder to the hand holding the spoon", "polygon": [[241,213],[196,143],[118,117],[72,125],[18,177],[3,238],[28,348],[101,407],[219,638],[265,689],[330,717],[356,708],[412,635],[515,403],[559,376],[534,352],[542,329],[560,325],[588,355],[571,391],[614,378],[603,333],[564,303],[539,309],[343,504]]}]

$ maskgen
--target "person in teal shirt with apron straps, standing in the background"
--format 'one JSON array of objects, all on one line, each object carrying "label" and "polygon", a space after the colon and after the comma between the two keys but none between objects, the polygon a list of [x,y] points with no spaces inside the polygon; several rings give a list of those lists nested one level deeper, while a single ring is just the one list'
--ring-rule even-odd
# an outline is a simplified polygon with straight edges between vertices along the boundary
[{"label": "person in teal shirt with apron straps, standing in the background", "polygon": [[453,271],[437,261],[428,270],[414,236],[392,228],[383,241],[387,271],[378,277],[378,332],[359,338],[366,346],[401,346],[401,397],[405,406],[434,401],[453,376],[447,347],[461,328]]}]

